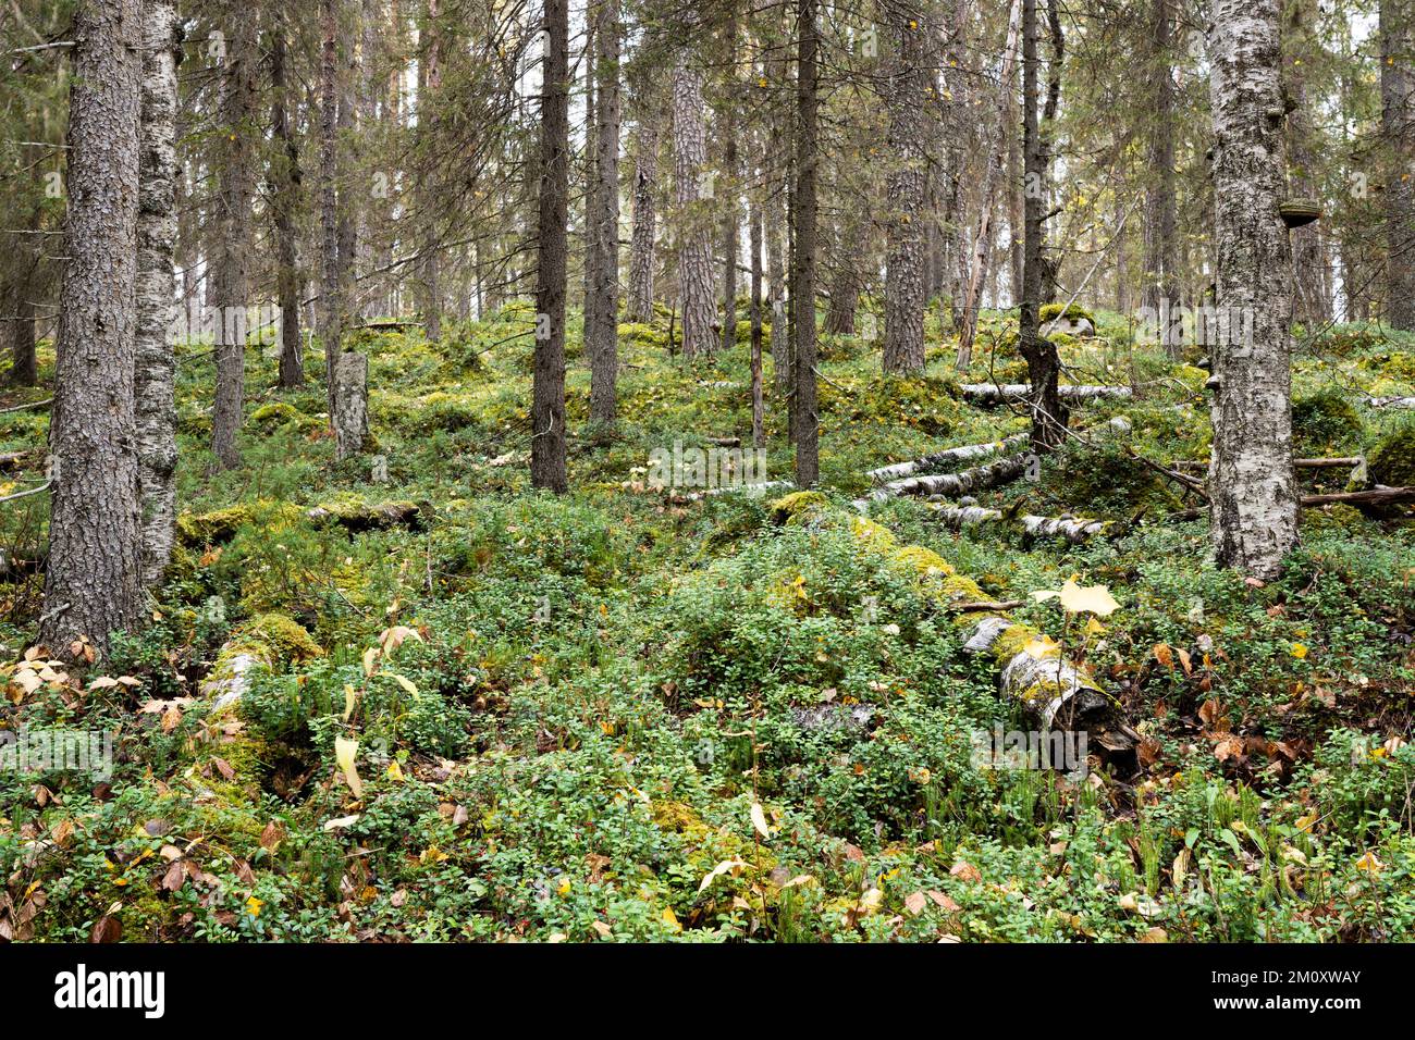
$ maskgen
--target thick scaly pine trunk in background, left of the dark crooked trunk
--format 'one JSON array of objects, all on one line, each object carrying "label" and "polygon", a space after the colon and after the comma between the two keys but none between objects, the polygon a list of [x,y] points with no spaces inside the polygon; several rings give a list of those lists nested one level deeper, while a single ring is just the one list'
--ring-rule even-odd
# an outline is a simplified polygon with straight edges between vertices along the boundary
[{"label": "thick scaly pine trunk in background, left of the dark crooked trunk", "polygon": [[887,0],[896,40],[889,83],[884,372],[924,371],[924,68],[927,23],[916,0]]}]

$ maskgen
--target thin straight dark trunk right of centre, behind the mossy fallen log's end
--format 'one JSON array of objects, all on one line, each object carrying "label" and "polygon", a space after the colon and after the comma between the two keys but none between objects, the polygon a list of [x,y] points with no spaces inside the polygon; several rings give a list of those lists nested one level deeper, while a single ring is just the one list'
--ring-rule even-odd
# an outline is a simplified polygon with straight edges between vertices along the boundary
[{"label": "thin straight dark trunk right of centre, behind the mossy fallen log's end", "polygon": [[792,192],[795,233],[795,277],[791,300],[795,306],[795,395],[792,398],[795,478],[802,488],[814,487],[821,475],[819,432],[815,415],[815,175],[819,156],[819,113],[816,98],[816,0],[797,0],[797,154]]}]

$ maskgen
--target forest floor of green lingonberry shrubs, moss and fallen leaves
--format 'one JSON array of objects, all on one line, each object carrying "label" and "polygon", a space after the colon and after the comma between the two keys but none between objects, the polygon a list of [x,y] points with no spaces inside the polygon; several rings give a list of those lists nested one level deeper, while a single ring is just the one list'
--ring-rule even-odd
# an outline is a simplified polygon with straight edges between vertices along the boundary
[{"label": "forest floor of green lingonberry shrubs, moss and fallen leaves", "polygon": [[[1024,379],[989,349],[1003,316],[968,379],[937,318],[913,381],[825,337],[825,494],[785,504],[649,487],[675,441],[750,444],[746,323],[691,369],[666,317],[621,325],[623,420],[597,437],[576,320],[570,492],[535,494],[532,341],[508,341],[532,317],[361,334],[386,480],[334,461],[316,351],[284,392],[250,349],[245,464],[215,470],[209,348],[181,347],[181,545],[151,624],[86,674],[27,649],[47,502],[6,505],[0,726],[31,757],[45,733],[109,734],[112,768],[0,771],[0,935],[1415,940],[1408,508],[1305,509],[1278,582],[1215,569],[1200,499],[1135,458],[1207,458],[1207,374],[1104,313],[1098,340],[1063,341],[1068,378],[1136,393],[1073,427],[1128,432],[976,494],[1114,521],[1080,545],[955,531],[918,498],[873,524],[850,505],[870,468],[1027,427],[958,392]],[[1415,393],[1411,347],[1364,325],[1305,342],[1298,454],[1415,464],[1415,413],[1365,403]],[[770,358],[766,382],[766,478],[790,480]],[[0,456],[35,451],[0,495],[42,475],[47,422],[0,413]],[[979,760],[979,733],[1036,723],[962,652],[954,572],[1095,675],[1140,737],[1128,764]],[[1070,577],[1118,608],[1032,596]]]}]

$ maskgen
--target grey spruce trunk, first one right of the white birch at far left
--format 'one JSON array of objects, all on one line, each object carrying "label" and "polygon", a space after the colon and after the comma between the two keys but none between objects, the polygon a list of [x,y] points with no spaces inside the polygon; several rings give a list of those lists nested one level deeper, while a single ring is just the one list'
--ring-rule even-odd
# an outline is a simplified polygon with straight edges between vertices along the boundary
[{"label": "grey spruce trunk, first one right of the white birch at far left", "polygon": [[212,258],[216,335],[216,402],[211,447],[224,467],[241,464],[236,436],[246,379],[246,306],[250,296],[250,201],[255,195],[256,27],[252,7],[235,3],[226,41],[221,99],[219,238]]}]

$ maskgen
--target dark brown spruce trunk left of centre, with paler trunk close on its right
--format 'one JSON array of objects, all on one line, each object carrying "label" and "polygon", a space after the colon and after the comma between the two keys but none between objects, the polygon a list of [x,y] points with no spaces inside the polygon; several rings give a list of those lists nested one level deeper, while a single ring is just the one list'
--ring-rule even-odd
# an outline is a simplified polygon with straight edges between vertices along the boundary
[{"label": "dark brown spruce trunk left of centre, with paler trunk close on its right", "polygon": [[565,283],[570,194],[569,0],[545,0],[536,345],[531,391],[531,484],[560,494],[565,474]]}]

